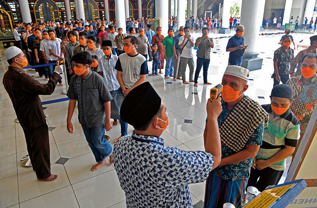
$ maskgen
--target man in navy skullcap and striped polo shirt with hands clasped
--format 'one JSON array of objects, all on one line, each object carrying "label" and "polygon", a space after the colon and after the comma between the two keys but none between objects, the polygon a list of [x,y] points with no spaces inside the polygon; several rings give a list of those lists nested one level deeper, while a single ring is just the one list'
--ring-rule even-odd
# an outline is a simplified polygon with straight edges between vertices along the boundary
[{"label": "man in navy skullcap and striped polo shirt with hands clasped", "polygon": [[292,87],[279,84],[272,90],[271,105],[262,105],[269,113],[269,125],[253,160],[247,187],[254,186],[263,191],[280,181],[286,158],[294,153],[300,137],[300,122],[289,109],[293,100]]}]

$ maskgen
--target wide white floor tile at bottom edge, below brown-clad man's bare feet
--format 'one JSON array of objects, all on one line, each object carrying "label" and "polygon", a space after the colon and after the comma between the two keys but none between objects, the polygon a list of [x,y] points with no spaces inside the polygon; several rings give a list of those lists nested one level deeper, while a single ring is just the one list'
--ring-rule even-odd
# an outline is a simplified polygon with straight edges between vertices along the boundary
[{"label": "wide white floor tile at bottom edge, below brown-clad man's bare feet", "polygon": [[71,186],[20,203],[20,208],[79,207]]}]

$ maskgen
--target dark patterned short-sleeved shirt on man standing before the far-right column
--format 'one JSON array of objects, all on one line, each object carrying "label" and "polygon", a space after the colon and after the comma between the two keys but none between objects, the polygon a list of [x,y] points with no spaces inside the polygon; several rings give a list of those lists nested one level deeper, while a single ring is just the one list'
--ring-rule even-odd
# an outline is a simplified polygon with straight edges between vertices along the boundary
[{"label": "dark patterned short-sleeved shirt on man standing before the far-right column", "polygon": [[279,75],[288,75],[290,62],[294,59],[294,50],[289,48],[286,52],[284,46],[279,47],[274,51],[273,61],[277,62],[277,69]]}]

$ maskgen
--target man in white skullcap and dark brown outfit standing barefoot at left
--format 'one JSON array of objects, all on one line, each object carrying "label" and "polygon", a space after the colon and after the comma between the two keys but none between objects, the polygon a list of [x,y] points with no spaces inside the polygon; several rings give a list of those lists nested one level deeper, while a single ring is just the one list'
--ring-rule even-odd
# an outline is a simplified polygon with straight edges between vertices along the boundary
[{"label": "man in white skullcap and dark brown outfit standing barefoot at left", "polygon": [[3,84],[23,129],[33,170],[38,181],[54,181],[57,175],[50,173],[48,127],[38,95],[54,92],[62,70],[57,67],[47,84],[42,84],[22,69],[28,65],[28,60],[21,49],[11,46],[6,49],[5,56],[10,66]]}]

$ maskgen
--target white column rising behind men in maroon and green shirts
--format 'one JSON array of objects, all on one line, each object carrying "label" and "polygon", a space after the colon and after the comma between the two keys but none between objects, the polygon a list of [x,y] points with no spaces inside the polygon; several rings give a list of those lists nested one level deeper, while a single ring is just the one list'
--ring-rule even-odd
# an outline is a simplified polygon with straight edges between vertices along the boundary
[{"label": "white column rising behind men in maroon and green shirts", "polygon": [[168,0],[155,0],[155,16],[161,20],[162,35],[167,36],[168,31]]}]

